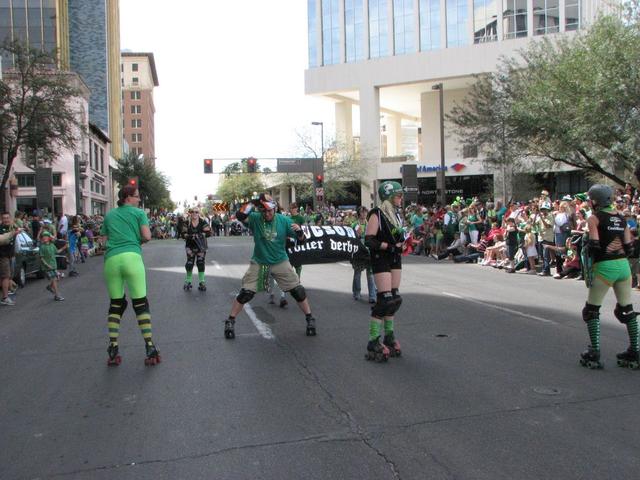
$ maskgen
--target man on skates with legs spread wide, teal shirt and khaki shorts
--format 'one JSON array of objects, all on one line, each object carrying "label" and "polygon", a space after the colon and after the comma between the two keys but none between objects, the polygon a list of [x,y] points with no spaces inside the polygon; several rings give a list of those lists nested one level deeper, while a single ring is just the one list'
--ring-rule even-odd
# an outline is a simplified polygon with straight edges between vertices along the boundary
[{"label": "man on skates with legs spread wide, teal shirt and khaki shorts", "polygon": [[[257,207],[259,211],[252,211]],[[311,315],[307,293],[300,278],[289,263],[285,248],[287,237],[304,240],[300,225],[291,218],[276,213],[277,204],[269,195],[260,194],[260,199],[246,203],[236,213],[236,218],[253,231],[253,256],[249,269],[242,277],[242,288],[233,301],[229,318],[224,322],[225,338],[235,338],[236,317],[258,291],[266,290],[269,274],[278,282],[283,292],[289,292],[298,302],[307,321],[307,335],[316,334],[316,321]]]}]

